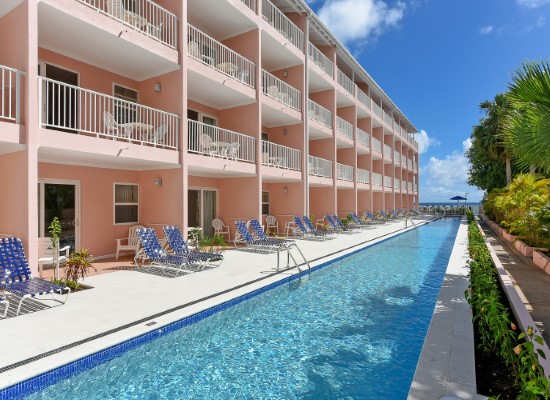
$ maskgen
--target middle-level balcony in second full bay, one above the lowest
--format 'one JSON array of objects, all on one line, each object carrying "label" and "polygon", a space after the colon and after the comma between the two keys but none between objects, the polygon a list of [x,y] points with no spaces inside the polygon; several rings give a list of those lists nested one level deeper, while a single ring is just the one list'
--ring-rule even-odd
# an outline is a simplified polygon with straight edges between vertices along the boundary
[{"label": "middle-level balcony in second full bay, one above the lowest", "polygon": [[188,96],[225,109],[256,101],[256,65],[204,32],[189,25]]}]

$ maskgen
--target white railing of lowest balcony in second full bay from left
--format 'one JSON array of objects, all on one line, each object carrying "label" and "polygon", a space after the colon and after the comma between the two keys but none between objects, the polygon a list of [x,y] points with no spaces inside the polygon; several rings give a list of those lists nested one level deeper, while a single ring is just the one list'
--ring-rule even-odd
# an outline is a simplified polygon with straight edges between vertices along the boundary
[{"label": "white railing of lowest balcony in second full bay from left", "polygon": [[256,162],[256,138],[198,121],[187,120],[190,153]]}]

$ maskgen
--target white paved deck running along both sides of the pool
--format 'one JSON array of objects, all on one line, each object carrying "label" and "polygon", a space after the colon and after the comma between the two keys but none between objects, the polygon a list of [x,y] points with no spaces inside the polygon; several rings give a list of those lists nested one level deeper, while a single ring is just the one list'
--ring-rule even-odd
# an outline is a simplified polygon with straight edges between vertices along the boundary
[{"label": "white paved deck running along both sides of the pool", "polygon": [[[414,222],[421,224],[424,220],[418,218]],[[466,309],[469,311],[467,303],[455,300],[463,294],[468,280],[467,271],[464,271],[464,246],[467,245],[464,228],[465,225],[461,225],[449,263],[454,269],[447,270],[441,290],[441,293],[448,292],[448,303],[440,303],[440,293],[428,337],[433,334],[432,331],[437,334],[438,330],[445,329],[437,338],[451,343],[455,350],[450,353],[451,361],[459,361],[460,368],[468,365],[473,371],[473,358],[465,360],[470,354],[473,357],[473,342],[460,340],[468,329],[472,329],[471,315],[468,319],[465,313]],[[298,240],[297,243],[306,258],[313,260],[311,266],[314,267],[408,229],[412,229],[410,222],[409,227],[405,228],[404,221],[395,221],[357,234],[340,234],[334,240]],[[273,282],[288,279],[297,272],[290,269],[277,273],[275,254],[237,250],[225,252],[225,260],[219,268],[175,278],[161,276],[152,269],[136,271],[130,268],[128,260],[102,260],[102,264],[111,265],[110,269],[120,270],[86,278],[85,283],[93,289],[71,294],[63,306],[0,320],[0,343],[4,344],[0,357],[0,388],[157,330]],[[444,321],[446,325],[443,327],[442,322],[438,321]],[[155,324],[148,325],[150,322]],[[427,339],[426,343],[429,342]],[[461,347],[468,345],[471,348]],[[438,349],[434,351],[439,352]],[[421,359],[419,370],[424,368],[421,368],[422,362]],[[472,381],[471,374],[459,374],[456,372],[459,369],[437,368],[441,368],[441,374],[445,375],[442,380],[447,386],[452,385],[464,393],[469,393],[473,388],[475,393],[475,375]],[[415,376],[413,385],[417,382],[425,384],[417,381]],[[421,389],[419,393],[422,396],[410,398],[439,398],[428,391],[427,386]]]}]

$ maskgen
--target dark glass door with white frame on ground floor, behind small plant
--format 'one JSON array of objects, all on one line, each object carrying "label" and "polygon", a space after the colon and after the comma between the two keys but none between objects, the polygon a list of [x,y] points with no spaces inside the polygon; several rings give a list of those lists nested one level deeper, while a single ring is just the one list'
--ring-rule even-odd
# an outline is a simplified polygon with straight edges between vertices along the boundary
[{"label": "dark glass door with white frame on ground floor, behind small plant", "polygon": [[54,217],[61,223],[60,247],[69,245],[71,252],[79,248],[79,197],[78,181],[39,180],[38,229],[40,237],[48,237],[48,227]]}]

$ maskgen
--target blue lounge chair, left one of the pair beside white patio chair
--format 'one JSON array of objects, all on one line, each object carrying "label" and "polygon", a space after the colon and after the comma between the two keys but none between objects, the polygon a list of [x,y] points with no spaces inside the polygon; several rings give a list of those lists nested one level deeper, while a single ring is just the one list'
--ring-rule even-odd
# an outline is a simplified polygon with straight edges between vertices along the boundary
[{"label": "blue lounge chair, left one of the pair beside white patio chair", "polygon": [[136,233],[141,243],[142,251],[145,253],[145,257],[142,254],[136,254],[134,257],[136,265],[138,265],[138,260],[149,260],[154,266],[175,270],[176,274],[178,270],[192,272],[189,258],[167,254],[162,248],[157,233],[153,228],[139,228],[136,230]]}]

